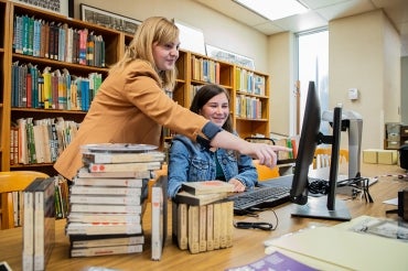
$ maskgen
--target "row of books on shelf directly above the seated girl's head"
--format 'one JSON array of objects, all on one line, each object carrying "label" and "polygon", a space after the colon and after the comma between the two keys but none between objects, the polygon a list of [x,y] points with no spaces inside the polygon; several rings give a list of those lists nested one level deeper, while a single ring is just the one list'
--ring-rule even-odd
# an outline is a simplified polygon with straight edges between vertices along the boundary
[{"label": "row of books on shelf directly above the seated girl's head", "polygon": [[219,84],[219,63],[213,59],[192,56],[192,79]]}]

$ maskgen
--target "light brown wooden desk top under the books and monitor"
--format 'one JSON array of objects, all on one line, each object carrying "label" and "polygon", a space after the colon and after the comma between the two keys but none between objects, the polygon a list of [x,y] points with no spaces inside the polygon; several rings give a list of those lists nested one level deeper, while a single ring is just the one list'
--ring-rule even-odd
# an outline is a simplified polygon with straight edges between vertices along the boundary
[{"label": "light brown wooden desk top under the books and monitor", "polygon": [[[397,165],[384,166],[364,164],[364,176],[377,176],[383,174],[404,174],[405,171]],[[347,199],[347,206],[353,217],[369,215],[384,217],[385,210],[394,209],[395,206],[383,204],[383,200],[397,197],[397,191],[408,187],[407,180],[398,180],[394,176],[380,177],[369,191],[374,198],[373,204],[364,199]],[[150,260],[150,207],[148,207],[143,228],[146,232],[144,252],[121,256],[103,256],[89,258],[68,258],[68,239],[64,235],[65,220],[56,221],[56,243],[52,258],[47,263],[49,270],[86,270],[89,267],[104,267],[117,270],[224,270],[225,268],[243,265],[258,260],[265,256],[262,241],[292,232],[313,225],[335,225],[339,221],[292,218],[290,216],[293,204],[284,204],[275,209],[279,224],[273,231],[258,229],[235,229],[234,245],[232,248],[221,249],[198,254],[191,254],[180,250],[171,240],[171,220],[169,221],[169,235],[165,242],[161,261]],[[170,210],[171,208],[169,208]],[[397,215],[389,216],[398,219]],[[170,218],[170,217],[169,217]],[[259,218],[235,217],[235,219],[271,221],[276,224],[272,212],[260,213]],[[22,228],[0,230],[0,261],[7,261],[14,270],[21,270]]]}]

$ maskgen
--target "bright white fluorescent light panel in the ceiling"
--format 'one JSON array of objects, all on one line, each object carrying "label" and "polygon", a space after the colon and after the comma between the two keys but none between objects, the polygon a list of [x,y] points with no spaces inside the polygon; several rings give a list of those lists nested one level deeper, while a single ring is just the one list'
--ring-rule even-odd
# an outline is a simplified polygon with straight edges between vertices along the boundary
[{"label": "bright white fluorescent light panel in the ceiling", "polygon": [[240,6],[275,21],[307,12],[309,9],[297,0],[233,0]]}]

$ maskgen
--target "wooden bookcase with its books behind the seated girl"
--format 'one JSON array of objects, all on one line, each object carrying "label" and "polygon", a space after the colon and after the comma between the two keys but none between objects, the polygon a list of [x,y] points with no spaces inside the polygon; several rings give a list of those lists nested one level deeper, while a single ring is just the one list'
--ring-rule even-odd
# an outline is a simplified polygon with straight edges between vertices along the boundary
[{"label": "wooden bookcase with its books behind the seated girl", "polygon": [[255,134],[269,137],[269,76],[267,74],[191,52],[183,53],[181,58],[184,63],[183,67],[186,67],[185,83],[181,91],[183,95],[175,95],[174,100],[189,108],[200,86],[217,83],[229,91],[230,116],[238,134],[241,138]]}]

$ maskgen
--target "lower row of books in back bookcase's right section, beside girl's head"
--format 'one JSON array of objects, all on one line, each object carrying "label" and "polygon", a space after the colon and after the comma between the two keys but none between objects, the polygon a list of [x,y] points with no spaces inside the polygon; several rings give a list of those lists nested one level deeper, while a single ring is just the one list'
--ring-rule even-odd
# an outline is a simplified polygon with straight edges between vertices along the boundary
[{"label": "lower row of books in back bookcase's right section, beside girl's head", "polygon": [[256,97],[237,95],[235,102],[235,112],[237,117],[247,119],[262,118],[262,101]]}]

